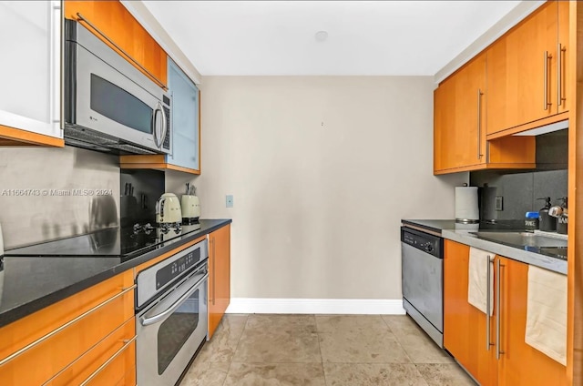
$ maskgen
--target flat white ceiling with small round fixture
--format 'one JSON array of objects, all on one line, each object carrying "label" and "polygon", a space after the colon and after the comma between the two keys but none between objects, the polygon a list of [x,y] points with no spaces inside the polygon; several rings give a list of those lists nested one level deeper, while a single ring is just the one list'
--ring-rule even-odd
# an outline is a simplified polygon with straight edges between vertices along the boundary
[{"label": "flat white ceiling with small round fixture", "polygon": [[519,3],[144,1],[203,76],[434,76]]}]

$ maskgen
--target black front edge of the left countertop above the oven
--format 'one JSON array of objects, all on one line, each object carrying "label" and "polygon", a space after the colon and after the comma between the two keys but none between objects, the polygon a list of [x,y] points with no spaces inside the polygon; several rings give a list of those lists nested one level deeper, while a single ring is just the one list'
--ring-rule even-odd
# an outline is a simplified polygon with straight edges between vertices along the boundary
[{"label": "black front edge of the left countertop above the oven", "polygon": [[26,316],[31,315],[36,311],[43,310],[46,307],[51,306],[60,300],[65,300],[68,297],[76,295],[77,293],[83,290],[87,290],[88,288],[93,287],[98,283],[105,281],[109,278],[112,278],[122,272],[125,272],[128,269],[138,267],[138,265],[143,264],[150,259],[155,259],[159,257],[159,255],[169,252],[172,249],[177,249],[181,245],[187,244],[192,240],[206,236],[214,232],[215,230],[223,228],[232,223],[231,218],[216,218],[216,219],[209,218],[205,219],[205,221],[212,221],[213,224],[208,228],[199,229],[198,231],[192,232],[192,234],[185,239],[169,243],[168,246],[164,246],[160,249],[149,251],[148,253],[145,253],[143,256],[139,258],[124,261],[110,269],[103,270],[95,275],[88,277],[87,279],[82,279],[67,287],[53,291],[41,298],[31,300],[25,304],[20,304],[10,310],[4,310],[3,312],[0,313],[0,328],[22,318],[25,318]]}]

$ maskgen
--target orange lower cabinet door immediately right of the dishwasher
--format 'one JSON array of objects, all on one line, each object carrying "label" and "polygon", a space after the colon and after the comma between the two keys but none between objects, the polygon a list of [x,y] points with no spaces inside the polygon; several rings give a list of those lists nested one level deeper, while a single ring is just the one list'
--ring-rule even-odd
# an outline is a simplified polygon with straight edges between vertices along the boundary
[{"label": "orange lower cabinet door immediately right of the dishwasher", "polygon": [[[495,386],[494,346],[486,350],[486,314],[467,301],[469,247],[445,240],[444,346],[480,384]],[[495,310],[497,312],[497,310]],[[490,318],[490,343],[495,318]]]}]

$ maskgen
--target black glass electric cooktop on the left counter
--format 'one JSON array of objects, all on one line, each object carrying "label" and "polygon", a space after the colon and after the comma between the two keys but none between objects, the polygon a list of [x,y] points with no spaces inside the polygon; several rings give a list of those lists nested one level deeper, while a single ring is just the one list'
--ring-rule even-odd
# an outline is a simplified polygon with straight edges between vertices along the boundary
[{"label": "black glass electric cooktop on the left counter", "polygon": [[168,227],[136,224],[123,228],[100,229],[86,235],[9,249],[5,251],[5,256],[110,256],[122,258],[123,262],[199,229],[199,224]]}]

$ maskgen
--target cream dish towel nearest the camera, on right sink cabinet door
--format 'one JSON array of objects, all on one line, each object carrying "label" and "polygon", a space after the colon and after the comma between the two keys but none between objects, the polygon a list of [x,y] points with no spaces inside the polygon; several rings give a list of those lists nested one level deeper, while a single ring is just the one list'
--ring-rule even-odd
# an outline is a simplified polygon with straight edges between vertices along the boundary
[{"label": "cream dish towel nearest the camera, on right sink cabinet door", "polygon": [[528,267],[527,333],[529,346],[567,366],[567,276]]}]

